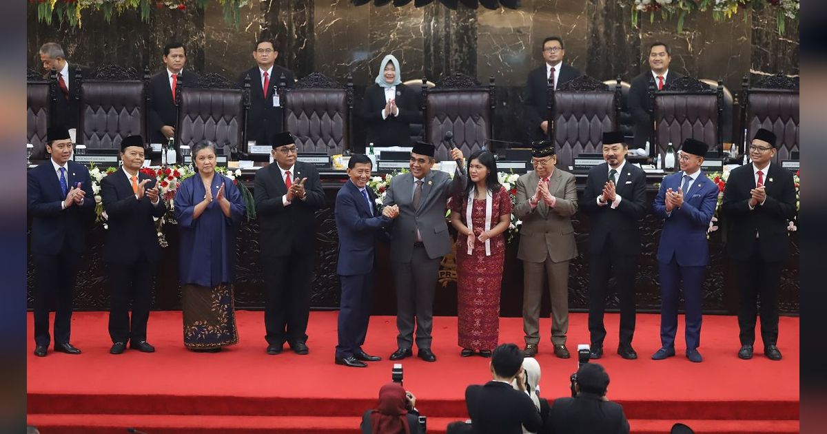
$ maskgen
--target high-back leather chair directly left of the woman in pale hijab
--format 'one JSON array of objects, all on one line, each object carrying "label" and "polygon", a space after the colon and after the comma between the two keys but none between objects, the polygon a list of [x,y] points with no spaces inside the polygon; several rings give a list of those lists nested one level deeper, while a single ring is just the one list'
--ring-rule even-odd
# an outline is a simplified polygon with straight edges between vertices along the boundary
[{"label": "high-back leather chair directly left of the woman in pale hijab", "polygon": [[284,131],[290,131],[299,152],[327,155],[351,149],[353,79],[347,85],[324,74],[313,73],[292,88],[278,87],[284,107]]}]

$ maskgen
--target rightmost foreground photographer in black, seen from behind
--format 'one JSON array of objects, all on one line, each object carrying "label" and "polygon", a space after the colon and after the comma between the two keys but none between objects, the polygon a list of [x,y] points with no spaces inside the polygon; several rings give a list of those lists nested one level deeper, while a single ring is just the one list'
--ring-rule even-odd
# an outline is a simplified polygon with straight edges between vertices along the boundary
[{"label": "rightmost foreground photographer in black, seen from behind", "polygon": [[549,409],[545,432],[628,434],[629,421],[619,403],[606,398],[609,374],[596,363],[577,370],[574,398],[557,398]]}]

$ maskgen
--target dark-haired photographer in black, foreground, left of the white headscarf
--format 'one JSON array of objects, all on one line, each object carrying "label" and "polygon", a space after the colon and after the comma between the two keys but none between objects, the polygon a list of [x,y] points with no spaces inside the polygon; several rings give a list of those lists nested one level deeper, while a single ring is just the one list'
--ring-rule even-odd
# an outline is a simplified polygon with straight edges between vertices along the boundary
[{"label": "dark-haired photographer in black, foreground, left of the white headscarf", "polygon": [[[502,344],[491,355],[493,380],[466,389],[466,407],[476,434],[522,434],[523,427],[538,432],[543,426],[534,402],[525,393],[523,351],[514,344]],[[519,390],[511,382],[517,379]]]}]

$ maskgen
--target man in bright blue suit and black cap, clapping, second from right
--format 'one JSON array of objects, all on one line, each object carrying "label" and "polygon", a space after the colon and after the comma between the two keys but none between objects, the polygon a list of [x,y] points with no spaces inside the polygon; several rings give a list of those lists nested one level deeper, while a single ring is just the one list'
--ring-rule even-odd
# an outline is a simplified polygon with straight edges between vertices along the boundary
[{"label": "man in bright blue suit and black cap, clapping, second from right", "polygon": [[657,265],[661,276],[661,349],[652,355],[663,360],[675,355],[677,305],[686,301],[686,358],[700,362],[701,307],[703,283],[710,251],[706,232],[718,203],[718,186],[700,170],[709,146],[686,139],[681,145],[681,171],[663,179],[653,205],[663,218]]}]

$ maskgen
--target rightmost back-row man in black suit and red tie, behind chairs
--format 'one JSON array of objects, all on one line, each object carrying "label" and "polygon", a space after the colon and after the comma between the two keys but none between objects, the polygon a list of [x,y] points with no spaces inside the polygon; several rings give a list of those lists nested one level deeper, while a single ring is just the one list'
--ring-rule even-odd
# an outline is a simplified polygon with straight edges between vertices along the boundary
[{"label": "rightmost back-row man in black suit and red tie, behind chairs", "polygon": [[672,50],[663,42],[653,42],[649,45],[649,70],[632,80],[629,87],[629,112],[634,118],[634,147],[644,148],[654,133],[652,117],[649,110],[649,83],[655,83],[655,89],[661,90],[668,83],[681,78],[681,74],[669,71],[672,62]]}]

